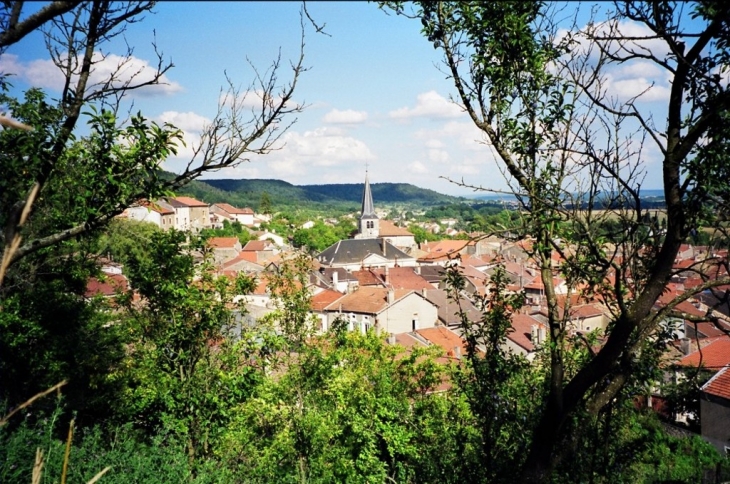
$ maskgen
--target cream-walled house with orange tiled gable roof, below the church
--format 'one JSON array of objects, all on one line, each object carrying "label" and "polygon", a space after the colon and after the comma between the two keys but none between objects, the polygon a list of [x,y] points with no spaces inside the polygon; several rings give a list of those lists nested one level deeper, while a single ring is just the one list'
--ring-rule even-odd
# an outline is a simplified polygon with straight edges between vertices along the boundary
[{"label": "cream-walled house with orange tiled gable roof, below the church", "polygon": [[406,333],[430,328],[438,320],[438,308],[420,293],[407,289],[361,287],[325,308],[328,327],[345,319],[351,330],[371,328],[386,333]]}]

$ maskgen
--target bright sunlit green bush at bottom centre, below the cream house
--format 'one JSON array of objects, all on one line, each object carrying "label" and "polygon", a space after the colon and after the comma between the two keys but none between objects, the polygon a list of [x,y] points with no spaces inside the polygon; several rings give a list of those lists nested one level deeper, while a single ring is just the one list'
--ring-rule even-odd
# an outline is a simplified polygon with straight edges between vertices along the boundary
[{"label": "bright sunlit green bush at bottom centre, below the cream house", "polygon": [[281,377],[237,410],[222,441],[237,480],[457,482],[444,464],[469,459],[457,454],[468,412],[427,393],[444,375],[434,351],[399,357],[403,349],[375,333],[341,329],[298,348]]}]

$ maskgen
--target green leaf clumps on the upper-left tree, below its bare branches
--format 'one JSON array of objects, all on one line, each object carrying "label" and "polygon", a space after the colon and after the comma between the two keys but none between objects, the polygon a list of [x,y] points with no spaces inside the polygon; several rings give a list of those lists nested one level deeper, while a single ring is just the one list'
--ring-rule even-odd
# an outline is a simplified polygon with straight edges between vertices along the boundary
[{"label": "green leaf clumps on the upper-left tree, below its bare branches", "polygon": [[[90,108],[89,135],[71,138],[58,155],[63,113],[48,104],[37,89],[21,102],[6,94],[0,102],[33,131],[0,133],[2,166],[0,224],[5,226],[11,207],[25,197],[33,181],[48,177],[33,206],[25,237],[44,237],[78,224],[102,220],[121,212],[138,198],[158,198],[166,190],[158,177],[162,160],[175,153],[180,131],[133,116],[124,127],[109,111]],[[57,160],[54,159],[57,157]],[[47,175],[49,170],[53,176]]]}]

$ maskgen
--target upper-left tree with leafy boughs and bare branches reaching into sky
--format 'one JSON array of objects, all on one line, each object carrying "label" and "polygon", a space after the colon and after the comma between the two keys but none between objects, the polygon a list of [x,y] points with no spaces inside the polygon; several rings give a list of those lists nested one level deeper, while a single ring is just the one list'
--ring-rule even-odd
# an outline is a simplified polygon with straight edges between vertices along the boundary
[{"label": "upper-left tree with leafy boughs and bare branches reaching into sky", "polygon": [[[2,103],[30,128],[0,133],[2,167],[8,174],[3,177],[0,199],[2,272],[31,253],[105,225],[141,198],[169,194],[205,172],[234,166],[251,153],[268,153],[286,131],[281,129],[284,118],[301,110],[292,103],[292,95],[303,70],[303,54],[291,65],[288,85],[277,82],[278,60],[267,71],[268,78],[255,80],[263,86],[264,96],[276,99],[258,112],[241,109],[245,96],[227,79],[218,113],[193,147],[193,159],[181,174],[161,176],[159,166],[175,154],[181,132],[152,123],[141,114],[128,121],[117,114],[124,110],[125,94],[159,83],[172,64],[157,53],[158,66],[151,78],[125,80],[123,70],[132,56],[128,47],[120,53],[120,64],[111,69],[108,79],[90,82],[98,62],[95,53],[123,33],[128,23],[149,13],[153,5],[55,2],[25,18],[23,1],[0,6],[11,29],[0,39],[0,49],[22,41],[44,21],[52,20],[43,35],[51,60],[66,76],[60,97],[53,103],[35,88],[22,101],[14,99],[2,83]],[[69,51],[78,54],[60,54]],[[12,73],[5,76],[8,74]],[[248,115],[250,118],[245,117]],[[90,134],[82,137],[78,125],[84,120]]]}]

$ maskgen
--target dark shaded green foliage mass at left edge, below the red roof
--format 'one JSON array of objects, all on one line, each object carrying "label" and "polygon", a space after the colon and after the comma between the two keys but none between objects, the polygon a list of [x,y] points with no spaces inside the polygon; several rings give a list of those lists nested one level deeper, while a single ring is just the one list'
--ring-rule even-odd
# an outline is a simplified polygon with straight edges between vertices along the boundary
[{"label": "dark shaded green foliage mass at left edge, below the red roof", "polygon": [[[0,310],[0,400],[13,407],[64,379],[70,410],[82,420],[108,416],[117,384],[109,373],[121,362],[126,335],[111,324],[107,301],[87,300],[86,282],[97,271],[81,256],[44,251],[5,286]],[[40,406],[44,402],[39,403]]]}]

